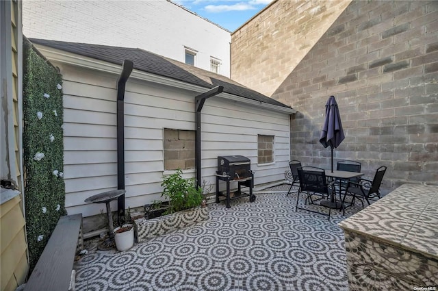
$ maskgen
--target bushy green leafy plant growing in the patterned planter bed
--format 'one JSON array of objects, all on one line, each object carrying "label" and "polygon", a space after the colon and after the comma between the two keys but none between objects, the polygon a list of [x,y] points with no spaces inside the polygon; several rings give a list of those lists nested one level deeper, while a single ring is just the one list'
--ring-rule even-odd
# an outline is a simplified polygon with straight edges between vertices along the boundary
[{"label": "bushy green leafy plant growing in the patterned planter bed", "polygon": [[184,179],[182,175],[183,172],[178,169],[163,179],[162,197],[169,200],[166,214],[199,206],[203,201],[203,190],[196,187],[196,180],[194,178]]}]

